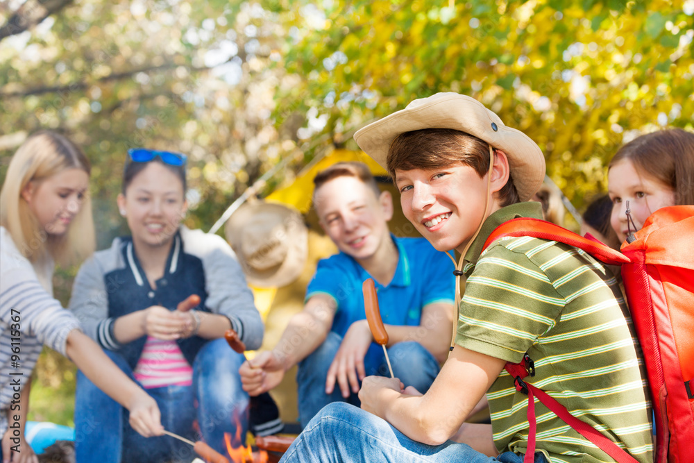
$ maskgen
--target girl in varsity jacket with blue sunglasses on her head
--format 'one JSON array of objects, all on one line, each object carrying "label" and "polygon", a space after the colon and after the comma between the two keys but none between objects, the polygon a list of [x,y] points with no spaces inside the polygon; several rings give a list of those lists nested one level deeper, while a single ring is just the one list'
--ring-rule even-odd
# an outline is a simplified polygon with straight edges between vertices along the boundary
[{"label": "girl in varsity jacket with blue sunglasses on her head", "polygon": [[[233,328],[248,348],[263,325],[233,251],[217,235],[181,224],[187,210],[185,155],[133,149],[118,208],[131,235],[81,267],[70,308],[83,329],[148,392],[167,430],[226,453],[242,444],[248,395],[244,362],[226,343]],[[200,297],[190,309],[191,295]],[[126,410],[78,373],[76,457],[87,462],[190,462],[191,446],[169,436],[143,439],[123,426]]]}]

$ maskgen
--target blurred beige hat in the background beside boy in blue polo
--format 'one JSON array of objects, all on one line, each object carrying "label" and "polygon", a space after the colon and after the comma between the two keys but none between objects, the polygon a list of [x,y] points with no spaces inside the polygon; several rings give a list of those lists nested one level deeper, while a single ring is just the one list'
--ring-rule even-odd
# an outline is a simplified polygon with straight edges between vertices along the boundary
[{"label": "blurred beige hat in the background beside boy in blue polo", "polygon": [[308,230],[294,208],[264,201],[246,203],[232,214],[224,231],[251,285],[281,287],[301,276],[308,255]]}]

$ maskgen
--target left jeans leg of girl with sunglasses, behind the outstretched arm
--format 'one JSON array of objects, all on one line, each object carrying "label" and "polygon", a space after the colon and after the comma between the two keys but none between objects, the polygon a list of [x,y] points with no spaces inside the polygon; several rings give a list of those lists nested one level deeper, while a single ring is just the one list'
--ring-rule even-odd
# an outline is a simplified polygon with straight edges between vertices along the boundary
[{"label": "left jeans leg of girl with sunglasses, behind the outstretched arm", "polygon": [[[133,379],[133,371],[121,355],[112,351],[104,352]],[[101,392],[82,371],[77,371],[74,418],[75,457],[78,462],[121,462],[123,407]]]}]

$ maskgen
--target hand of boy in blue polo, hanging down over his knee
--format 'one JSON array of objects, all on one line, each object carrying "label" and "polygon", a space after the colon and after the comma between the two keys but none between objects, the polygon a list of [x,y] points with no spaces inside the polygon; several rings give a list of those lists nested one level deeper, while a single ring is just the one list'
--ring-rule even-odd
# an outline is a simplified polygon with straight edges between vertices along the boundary
[{"label": "hand of boy in blue polo, hanging down over his knee", "polygon": [[359,381],[366,376],[364,356],[371,342],[373,342],[373,335],[369,330],[369,322],[359,320],[352,323],[342,338],[342,344],[328,369],[325,394],[332,394],[336,380],[344,398],[350,396],[350,389],[355,394],[359,392]]}]

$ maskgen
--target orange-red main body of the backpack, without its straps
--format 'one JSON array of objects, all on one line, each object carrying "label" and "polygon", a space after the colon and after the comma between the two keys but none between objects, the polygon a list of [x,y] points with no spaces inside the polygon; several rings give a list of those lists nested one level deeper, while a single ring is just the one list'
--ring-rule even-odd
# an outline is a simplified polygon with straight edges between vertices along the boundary
[{"label": "orange-red main body of the backpack, without its straps", "polygon": [[622,278],[656,416],[656,461],[694,460],[694,205],[654,212]]}]

